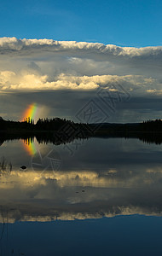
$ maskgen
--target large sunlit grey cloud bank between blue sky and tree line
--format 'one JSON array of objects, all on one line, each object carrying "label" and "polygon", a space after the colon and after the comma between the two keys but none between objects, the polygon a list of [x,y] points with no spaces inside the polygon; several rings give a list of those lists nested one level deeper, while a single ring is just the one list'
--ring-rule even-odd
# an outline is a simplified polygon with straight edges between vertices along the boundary
[{"label": "large sunlit grey cloud bank between blue sky and tree line", "polygon": [[[142,116],[142,112],[150,113],[151,118],[161,114],[153,113],[156,109],[160,111],[154,102],[162,96],[160,46],[138,49],[52,39],[0,38],[0,55],[0,97],[2,102],[9,98],[8,105],[1,108],[4,118],[10,118],[5,109],[13,108],[18,98],[19,106],[14,105],[15,119],[20,119],[20,106],[26,108],[26,103],[32,102],[48,107],[50,116],[55,112],[72,118],[73,109],[79,111],[91,99],[97,102],[98,90],[111,94],[112,98],[118,92],[129,95],[129,102],[121,104],[120,100],[115,105],[120,121],[131,121],[139,113]],[[65,95],[68,95],[66,100]],[[148,99],[150,105],[145,108]],[[132,102],[138,102],[133,103],[134,113]]]}]

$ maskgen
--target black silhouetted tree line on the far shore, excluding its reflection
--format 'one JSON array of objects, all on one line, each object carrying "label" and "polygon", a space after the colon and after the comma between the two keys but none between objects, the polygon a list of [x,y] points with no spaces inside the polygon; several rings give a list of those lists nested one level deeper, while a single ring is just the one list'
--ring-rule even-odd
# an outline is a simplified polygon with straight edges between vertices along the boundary
[{"label": "black silhouetted tree line on the far shore, excluding its reflection", "polygon": [[[96,126],[96,129],[95,129]],[[53,118],[53,119],[38,119],[34,124],[34,120],[26,118],[24,121],[4,120],[0,117],[0,131],[60,131],[62,133],[72,132],[78,133],[86,132],[161,132],[162,120],[148,120],[142,123],[128,123],[128,124],[81,124],[74,123],[72,120]]]}]

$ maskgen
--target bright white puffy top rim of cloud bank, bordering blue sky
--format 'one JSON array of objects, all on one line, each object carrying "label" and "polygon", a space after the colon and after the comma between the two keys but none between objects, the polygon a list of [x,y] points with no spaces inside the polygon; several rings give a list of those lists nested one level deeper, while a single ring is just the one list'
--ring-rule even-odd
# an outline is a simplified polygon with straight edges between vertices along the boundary
[{"label": "bright white puffy top rim of cloud bank, bordering blue sky", "polygon": [[52,39],[18,39],[18,38],[0,38],[0,50],[21,51],[26,49],[38,50],[47,47],[51,51],[58,50],[85,50],[103,53],[107,55],[159,55],[162,53],[162,47],[119,47],[113,44],[87,43],[76,41],[55,41]]}]

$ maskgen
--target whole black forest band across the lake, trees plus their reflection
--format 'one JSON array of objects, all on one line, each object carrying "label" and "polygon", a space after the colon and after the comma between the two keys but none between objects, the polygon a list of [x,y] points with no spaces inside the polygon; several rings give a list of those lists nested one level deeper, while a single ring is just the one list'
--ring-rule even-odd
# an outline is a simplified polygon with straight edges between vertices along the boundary
[{"label": "whole black forest band across the lake, trees plus their reflection", "polygon": [[71,143],[75,139],[90,137],[124,137],[138,138],[143,143],[162,143],[162,120],[148,120],[142,123],[127,124],[84,124],[74,123],[67,119],[38,119],[37,123],[30,118],[24,121],[4,120],[0,117],[0,144],[4,141],[23,139],[38,143]]}]

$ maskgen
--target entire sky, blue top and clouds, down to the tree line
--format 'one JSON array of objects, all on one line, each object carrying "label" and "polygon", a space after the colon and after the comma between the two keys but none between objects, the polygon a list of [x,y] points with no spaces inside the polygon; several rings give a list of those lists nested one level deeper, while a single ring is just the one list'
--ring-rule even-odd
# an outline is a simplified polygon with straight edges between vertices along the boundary
[{"label": "entire sky, blue top and clouds, down to the tree line", "polygon": [[1,1],[0,116],[20,120],[34,103],[41,118],[161,118],[161,9],[158,0]]}]

